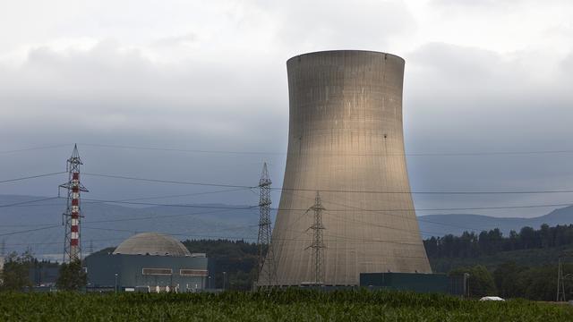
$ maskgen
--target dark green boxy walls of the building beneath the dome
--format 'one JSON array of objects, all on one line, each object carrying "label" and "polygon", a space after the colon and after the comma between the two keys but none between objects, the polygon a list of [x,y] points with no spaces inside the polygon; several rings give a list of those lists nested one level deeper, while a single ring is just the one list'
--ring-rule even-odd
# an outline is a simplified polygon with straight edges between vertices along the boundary
[{"label": "dark green boxy walls of the building beneath the dome", "polygon": [[[171,290],[179,285],[179,292],[201,290],[208,285],[208,276],[182,276],[180,269],[208,269],[208,258],[97,254],[85,258],[88,286],[115,287],[115,273],[119,287],[159,286]],[[143,275],[142,268],[171,268],[172,275]]]}]

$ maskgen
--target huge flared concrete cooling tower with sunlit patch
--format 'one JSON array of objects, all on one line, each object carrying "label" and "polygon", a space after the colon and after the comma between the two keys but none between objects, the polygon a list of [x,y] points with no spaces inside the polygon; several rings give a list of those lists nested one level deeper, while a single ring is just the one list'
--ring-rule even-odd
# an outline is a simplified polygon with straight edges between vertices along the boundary
[{"label": "huge flared concrete cooling tower with sunlit patch", "polygon": [[[360,273],[431,273],[404,156],[404,60],[337,50],[297,55],[286,67],[288,154],[271,284],[355,285]],[[315,216],[306,211],[317,191],[324,208],[320,281],[309,247]]]}]

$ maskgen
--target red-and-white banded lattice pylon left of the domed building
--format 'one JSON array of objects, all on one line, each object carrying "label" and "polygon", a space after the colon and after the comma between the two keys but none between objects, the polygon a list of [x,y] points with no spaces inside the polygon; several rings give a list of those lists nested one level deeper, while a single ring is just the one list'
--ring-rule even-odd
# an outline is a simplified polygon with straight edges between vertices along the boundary
[{"label": "red-and-white banded lattice pylon left of the domed building", "polygon": [[83,163],[81,163],[78,147],[74,145],[72,157],[67,160],[66,165],[68,182],[59,186],[68,192],[65,212],[62,216],[62,225],[65,226],[64,263],[81,260],[81,192],[88,192],[88,190],[80,182],[80,165]]}]

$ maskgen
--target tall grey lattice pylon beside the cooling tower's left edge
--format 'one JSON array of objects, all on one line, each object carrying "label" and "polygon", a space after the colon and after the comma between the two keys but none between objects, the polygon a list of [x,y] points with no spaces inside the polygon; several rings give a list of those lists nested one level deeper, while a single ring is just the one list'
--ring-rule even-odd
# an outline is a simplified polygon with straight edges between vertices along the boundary
[{"label": "tall grey lattice pylon beside the cooling tower's left edge", "polygon": [[[259,280],[258,285],[276,285],[277,267],[275,254],[271,247],[272,229],[270,227],[270,181],[267,163],[262,165],[261,179],[259,180]],[[264,251],[267,250],[265,256]]]}]

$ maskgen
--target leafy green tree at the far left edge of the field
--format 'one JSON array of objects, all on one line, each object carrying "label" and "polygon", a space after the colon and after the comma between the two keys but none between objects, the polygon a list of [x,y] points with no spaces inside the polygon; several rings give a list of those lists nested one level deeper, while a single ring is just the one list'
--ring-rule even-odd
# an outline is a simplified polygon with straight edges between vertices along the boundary
[{"label": "leafy green tree at the far left edge of the field", "polygon": [[0,290],[2,291],[22,291],[25,287],[30,287],[30,266],[34,258],[29,250],[22,254],[11,253],[6,258],[4,269],[0,280]]}]

